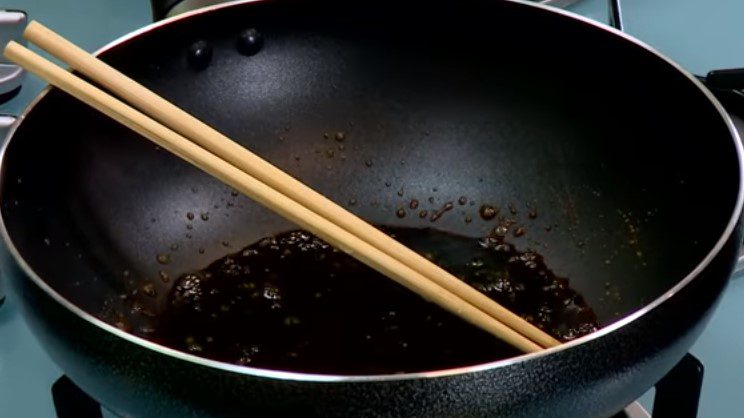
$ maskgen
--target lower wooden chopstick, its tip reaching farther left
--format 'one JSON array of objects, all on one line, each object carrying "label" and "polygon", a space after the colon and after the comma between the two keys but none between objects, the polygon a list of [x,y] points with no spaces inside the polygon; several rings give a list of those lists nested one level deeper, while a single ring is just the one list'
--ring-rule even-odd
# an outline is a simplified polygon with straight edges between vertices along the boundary
[{"label": "lower wooden chopstick, its tip reaching farther left", "polygon": [[5,48],[5,56],[460,318],[522,351],[542,350],[539,345],[444,287],[31,50],[10,42]]}]

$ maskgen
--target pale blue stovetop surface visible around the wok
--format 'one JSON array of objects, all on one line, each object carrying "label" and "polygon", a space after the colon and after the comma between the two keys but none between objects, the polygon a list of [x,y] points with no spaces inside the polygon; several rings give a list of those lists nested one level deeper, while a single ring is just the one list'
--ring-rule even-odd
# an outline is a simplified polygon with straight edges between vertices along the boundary
[{"label": "pale blue stovetop surface visible around the wok", "polygon": [[[605,0],[582,0],[571,10],[606,21]],[[3,0],[0,8],[22,9],[95,50],[149,22],[148,0]],[[625,29],[683,67],[705,74],[711,69],[744,67],[744,1],[624,0]],[[18,113],[43,88],[28,78],[21,93],[0,105]],[[744,416],[744,279],[733,280],[710,325],[691,353],[705,365],[701,418]],[[0,417],[54,417],[50,388],[62,375],[36,342],[12,299],[0,308]],[[640,399],[651,409],[652,394]]]}]

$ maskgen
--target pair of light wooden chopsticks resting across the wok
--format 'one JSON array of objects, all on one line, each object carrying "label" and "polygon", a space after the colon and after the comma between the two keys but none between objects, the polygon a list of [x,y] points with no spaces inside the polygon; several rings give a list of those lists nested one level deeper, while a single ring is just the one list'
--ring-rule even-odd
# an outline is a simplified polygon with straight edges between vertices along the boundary
[{"label": "pair of light wooden chopsticks resting across the wok", "polygon": [[5,56],[425,299],[524,352],[560,342],[369,223],[37,22],[24,37],[122,100],[16,42]]}]

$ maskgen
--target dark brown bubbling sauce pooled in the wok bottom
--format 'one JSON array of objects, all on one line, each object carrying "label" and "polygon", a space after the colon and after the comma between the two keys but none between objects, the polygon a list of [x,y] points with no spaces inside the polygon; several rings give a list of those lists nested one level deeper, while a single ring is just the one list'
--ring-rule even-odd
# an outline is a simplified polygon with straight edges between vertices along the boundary
[{"label": "dark brown bubbling sauce pooled in the wok bottom", "polygon": [[[563,341],[597,329],[583,297],[534,252],[496,235],[385,231]],[[381,374],[520,354],[304,231],[181,276],[168,304],[147,338],[254,367]]]}]

